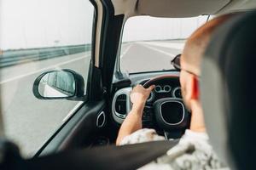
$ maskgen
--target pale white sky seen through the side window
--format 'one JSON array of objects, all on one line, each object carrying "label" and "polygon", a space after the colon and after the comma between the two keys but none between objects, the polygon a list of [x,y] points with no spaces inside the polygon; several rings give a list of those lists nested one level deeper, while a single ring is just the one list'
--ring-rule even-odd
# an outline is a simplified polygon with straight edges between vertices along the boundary
[{"label": "pale white sky seen through the side window", "polygon": [[91,41],[88,0],[1,0],[0,48],[40,48]]}]

